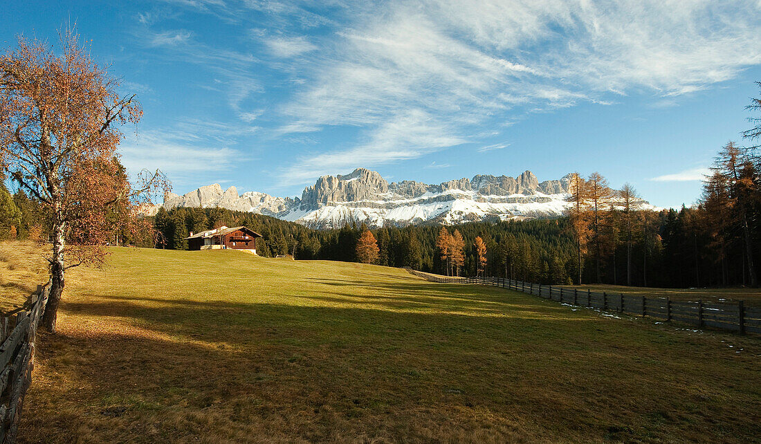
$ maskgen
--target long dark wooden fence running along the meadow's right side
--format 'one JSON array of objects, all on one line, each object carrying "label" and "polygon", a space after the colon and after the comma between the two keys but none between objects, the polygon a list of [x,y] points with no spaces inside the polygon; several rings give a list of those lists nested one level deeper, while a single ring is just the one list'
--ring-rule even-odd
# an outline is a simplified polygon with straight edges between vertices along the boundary
[{"label": "long dark wooden fence running along the meadow's right side", "polygon": [[610,312],[650,316],[664,321],[678,321],[698,328],[712,327],[739,333],[761,333],[761,307],[745,306],[742,300],[708,303],[702,300],[670,300],[668,297],[645,297],[623,293],[595,292],[552,285],[512,281],[501,277],[444,277],[409,270],[428,281],[453,284],[480,284],[522,291],[559,303],[584,306]]}]

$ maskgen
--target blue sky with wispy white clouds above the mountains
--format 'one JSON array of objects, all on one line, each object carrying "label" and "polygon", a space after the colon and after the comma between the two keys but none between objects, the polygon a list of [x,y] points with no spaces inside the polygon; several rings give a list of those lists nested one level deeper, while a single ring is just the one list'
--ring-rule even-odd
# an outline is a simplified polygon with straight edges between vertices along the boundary
[{"label": "blue sky with wispy white clouds above the mountains", "polygon": [[[0,41],[76,22],[139,95],[131,170],[177,193],[301,195],[355,167],[390,181],[599,171],[655,205],[696,201],[746,143],[761,2],[9,2]],[[91,41],[91,42],[90,42]]]}]

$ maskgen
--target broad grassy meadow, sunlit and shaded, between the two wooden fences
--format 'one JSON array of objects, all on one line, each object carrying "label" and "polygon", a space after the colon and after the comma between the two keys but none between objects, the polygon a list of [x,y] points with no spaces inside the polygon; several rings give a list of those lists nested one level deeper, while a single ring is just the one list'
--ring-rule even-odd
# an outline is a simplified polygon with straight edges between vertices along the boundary
[{"label": "broad grassy meadow, sunlit and shaded, between the two wooden fences", "polygon": [[68,276],[59,335],[37,349],[21,442],[748,442],[761,432],[757,337],[374,265],[111,251],[107,268]]}]

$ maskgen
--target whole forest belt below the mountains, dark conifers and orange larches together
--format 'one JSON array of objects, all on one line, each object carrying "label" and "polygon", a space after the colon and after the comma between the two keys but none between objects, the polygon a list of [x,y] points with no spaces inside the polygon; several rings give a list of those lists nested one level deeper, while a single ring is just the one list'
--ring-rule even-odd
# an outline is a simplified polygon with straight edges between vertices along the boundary
[{"label": "whole forest belt below the mountains, dark conifers and orange larches together", "polygon": [[[761,109],[761,100],[748,108]],[[743,135],[757,140],[761,129],[757,125]],[[759,171],[759,146],[730,141],[705,176],[699,201],[679,210],[653,211],[632,186],[614,190],[603,176],[592,173],[572,176],[568,214],[556,219],[311,230],[224,208],[160,208],[148,217],[151,224],[144,224],[145,230],[115,228],[112,239],[117,245],[187,249],[190,232],[245,225],[263,235],[257,252],[266,257],[372,262],[542,284],[756,287],[761,265]],[[50,238],[51,227],[49,212],[39,201],[21,189],[11,195],[0,182],[0,239],[43,242]]]}]

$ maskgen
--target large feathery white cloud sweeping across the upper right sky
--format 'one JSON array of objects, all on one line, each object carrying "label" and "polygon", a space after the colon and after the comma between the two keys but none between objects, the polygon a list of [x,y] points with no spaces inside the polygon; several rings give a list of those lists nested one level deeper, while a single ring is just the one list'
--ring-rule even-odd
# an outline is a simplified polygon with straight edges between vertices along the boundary
[{"label": "large feathery white cloud sweeping across the upper right sky", "polygon": [[[761,64],[759,2],[166,1],[229,20],[255,11],[244,24],[251,53],[199,43],[186,30],[142,33],[167,57],[213,71],[213,87],[239,119],[258,119],[245,101],[276,90],[262,105],[280,122],[268,136],[293,142],[326,128],[352,132],[341,147],[300,147],[280,170],[291,185],[465,142],[486,145],[481,153],[501,150],[509,144],[487,141],[532,113],[607,106],[642,91],[652,106],[670,106]],[[261,78],[267,70],[276,73],[271,83]],[[703,171],[652,180],[698,180]]]}]

